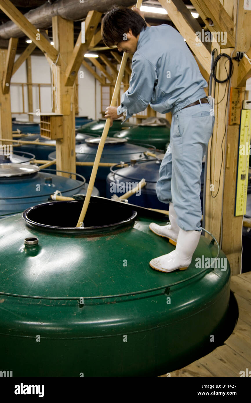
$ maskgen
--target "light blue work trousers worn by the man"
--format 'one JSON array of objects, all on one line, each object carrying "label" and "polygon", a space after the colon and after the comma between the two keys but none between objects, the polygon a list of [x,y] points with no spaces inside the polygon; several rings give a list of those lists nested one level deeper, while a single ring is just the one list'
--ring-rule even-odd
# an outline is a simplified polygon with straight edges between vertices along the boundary
[{"label": "light blue work trousers worn by the man", "polygon": [[173,203],[184,231],[201,230],[202,159],[214,128],[210,104],[181,109],[172,115],[170,146],[160,165],[158,199]]}]

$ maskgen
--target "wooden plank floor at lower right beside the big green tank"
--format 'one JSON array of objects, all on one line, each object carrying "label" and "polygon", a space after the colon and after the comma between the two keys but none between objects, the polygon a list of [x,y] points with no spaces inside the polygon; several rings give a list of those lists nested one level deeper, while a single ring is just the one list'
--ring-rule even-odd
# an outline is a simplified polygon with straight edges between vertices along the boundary
[{"label": "wooden plank floor at lower right beside the big green tank", "polygon": [[251,370],[251,272],[232,276],[231,290],[238,302],[239,318],[230,337],[223,346],[171,372],[171,376],[239,377],[240,371]]}]

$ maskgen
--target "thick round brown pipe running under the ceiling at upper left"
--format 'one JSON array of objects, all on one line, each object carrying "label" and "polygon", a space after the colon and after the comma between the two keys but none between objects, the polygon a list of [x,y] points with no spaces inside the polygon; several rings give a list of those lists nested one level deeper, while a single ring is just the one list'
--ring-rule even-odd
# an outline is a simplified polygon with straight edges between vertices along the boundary
[{"label": "thick round brown pipe running under the ceiling at upper left", "polygon": [[[116,5],[129,7],[135,4],[135,0],[117,0]],[[52,17],[59,15],[66,20],[79,21],[84,19],[88,12],[96,10],[106,12],[110,7],[114,6],[114,0],[88,0],[80,2],[80,0],[58,0],[53,4],[49,2],[27,12],[25,17],[36,28],[47,29],[52,26]],[[9,39],[25,36],[23,31],[12,21],[0,26],[0,39]]]}]

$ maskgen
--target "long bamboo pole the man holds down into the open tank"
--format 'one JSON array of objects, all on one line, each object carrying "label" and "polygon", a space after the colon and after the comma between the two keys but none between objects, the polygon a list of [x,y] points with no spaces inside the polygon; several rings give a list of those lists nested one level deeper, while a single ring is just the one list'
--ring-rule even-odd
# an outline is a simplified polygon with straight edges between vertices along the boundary
[{"label": "long bamboo pole the man holds down into the open tank", "polygon": [[[142,0],[137,0],[136,7],[140,8],[141,4],[142,4]],[[118,71],[118,77],[117,77],[116,84],[115,84],[115,87],[114,87],[114,91],[113,91],[113,95],[112,95],[112,102],[111,102],[110,106],[116,106],[117,99],[118,99],[118,94],[119,94],[120,86],[121,86],[121,82],[122,82],[122,78],[123,78],[123,75],[124,75],[124,70],[125,70],[125,67],[126,67],[126,64],[127,64],[127,58],[128,58],[128,53],[124,52],[122,60],[121,60],[120,68],[119,68],[119,71]],[[92,168],[92,171],[91,171],[91,178],[90,178],[90,181],[89,181],[89,185],[88,185],[86,196],[85,196],[85,201],[84,201],[84,204],[83,204],[80,216],[79,216],[77,227],[82,226],[82,223],[83,223],[84,218],[85,218],[85,214],[87,212],[87,208],[89,206],[89,202],[90,202],[90,199],[91,199],[91,193],[92,193],[94,182],[95,182],[96,175],[97,175],[98,164],[100,162],[100,158],[101,158],[101,155],[102,155],[102,151],[103,151],[103,148],[104,148],[104,144],[105,144],[106,137],[108,135],[109,129],[110,129],[110,118],[106,119],[106,124],[105,124],[104,130],[103,130],[103,133],[102,133],[102,136],[101,136],[101,139],[100,139],[100,143],[99,143],[98,148],[97,148],[97,154],[96,154],[94,165],[93,165],[93,168]]]}]

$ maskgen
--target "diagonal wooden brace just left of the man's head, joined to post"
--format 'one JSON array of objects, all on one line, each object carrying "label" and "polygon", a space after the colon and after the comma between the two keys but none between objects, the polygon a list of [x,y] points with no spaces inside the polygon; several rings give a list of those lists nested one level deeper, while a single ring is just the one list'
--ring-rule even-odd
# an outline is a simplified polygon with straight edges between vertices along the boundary
[{"label": "diagonal wooden brace just left of the man's head, joined to post", "polygon": [[85,19],[85,43],[82,44],[81,41],[82,35],[80,32],[77,42],[73,49],[71,60],[65,71],[65,85],[67,87],[68,86],[71,87],[74,84],[75,77],[83,61],[84,54],[89,48],[91,39],[93,38],[94,32],[97,29],[97,25],[100,22],[101,17],[102,17],[101,12],[95,10],[88,12],[88,15]]}]

